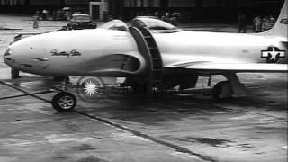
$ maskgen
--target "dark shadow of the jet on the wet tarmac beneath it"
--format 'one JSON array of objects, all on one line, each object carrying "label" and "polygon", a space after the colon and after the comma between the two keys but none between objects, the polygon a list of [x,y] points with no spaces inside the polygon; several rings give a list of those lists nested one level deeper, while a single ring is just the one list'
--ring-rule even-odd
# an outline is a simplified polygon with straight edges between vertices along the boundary
[{"label": "dark shadow of the jet on the wet tarmac beneath it", "polygon": [[[23,76],[18,80],[6,80],[16,87],[31,93],[47,90],[60,82],[50,77]],[[282,84],[281,84],[282,85]],[[77,111],[89,112],[121,121],[138,121],[145,124],[158,124],[165,121],[180,121],[184,118],[208,118],[217,112],[245,112],[251,107],[257,109],[285,110],[285,105],[266,100],[262,90],[251,89],[247,97],[217,101],[210,95],[202,94],[103,94],[99,100],[85,102],[78,98]],[[76,94],[75,90],[70,91]],[[271,95],[271,94],[270,94]],[[51,97],[49,94],[47,97]],[[50,100],[51,98],[45,98]],[[270,106],[270,107],[269,107]],[[49,107],[50,109],[51,107]],[[46,108],[45,108],[46,109]]]}]

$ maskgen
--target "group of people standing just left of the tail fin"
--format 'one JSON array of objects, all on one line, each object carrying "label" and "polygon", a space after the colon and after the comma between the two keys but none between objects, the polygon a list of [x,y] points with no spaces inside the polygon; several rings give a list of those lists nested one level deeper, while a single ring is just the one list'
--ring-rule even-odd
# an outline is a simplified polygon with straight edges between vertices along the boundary
[{"label": "group of people standing just left of the tail fin", "polygon": [[257,15],[257,17],[253,19],[253,23],[255,32],[263,32],[273,28],[275,24],[275,18],[271,15],[265,16],[264,18],[261,18],[261,16]]}]

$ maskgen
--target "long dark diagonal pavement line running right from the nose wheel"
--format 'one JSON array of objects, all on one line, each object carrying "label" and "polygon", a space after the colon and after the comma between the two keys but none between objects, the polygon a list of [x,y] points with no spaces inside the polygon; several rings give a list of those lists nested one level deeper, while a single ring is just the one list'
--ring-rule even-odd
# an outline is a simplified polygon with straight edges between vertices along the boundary
[{"label": "long dark diagonal pavement line running right from the nose wheel", "polygon": [[79,112],[79,111],[76,111],[76,110],[74,112],[76,112],[76,113],[78,113],[80,115],[86,116],[86,117],[88,117],[90,119],[94,119],[96,121],[102,121],[103,123],[111,125],[112,127],[128,131],[128,132],[134,134],[135,136],[138,136],[138,137],[141,137],[141,138],[144,138],[144,139],[148,139],[148,140],[153,141],[155,143],[158,143],[160,145],[164,145],[164,146],[166,146],[168,148],[173,148],[177,152],[184,153],[184,154],[189,154],[189,155],[196,156],[196,157],[200,157],[202,160],[209,161],[209,162],[218,162],[218,160],[215,160],[212,157],[203,156],[201,154],[198,154],[198,153],[195,153],[195,152],[191,151],[188,148],[184,148],[184,147],[175,145],[174,143],[168,142],[166,140],[154,138],[152,136],[149,136],[148,134],[144,134],[144,133],[139,132],[137,130],[131,130],[131,129],[127,128],[127,127],[121,126],[120,124],[114,123],[112,121],[108,121],[106,119],[103,119],[103,118],[100,118],[100,117],[96,117],[94,115],[87,114],[85,112]]}]

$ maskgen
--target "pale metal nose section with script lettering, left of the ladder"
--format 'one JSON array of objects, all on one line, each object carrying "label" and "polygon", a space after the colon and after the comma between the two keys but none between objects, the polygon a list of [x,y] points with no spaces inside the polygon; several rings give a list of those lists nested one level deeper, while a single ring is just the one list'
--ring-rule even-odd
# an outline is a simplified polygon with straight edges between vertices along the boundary
[{"label": "pale metal nose section with script lettering, left of the ladder", "polygon": [[[129,32],[124,31],[97,29],[52,32],[17,41],[9,49],[12,53],[9,58],[14,61],[4,58],[6,64],[40,75],[122,76],[141,73],[146,67],[136,42]],[[139,69],[119,69],[120,64],[127,60],[115,57],[107,59],[109,55],[136,58]],[[32,67],[23,67],[23,63]]]}]

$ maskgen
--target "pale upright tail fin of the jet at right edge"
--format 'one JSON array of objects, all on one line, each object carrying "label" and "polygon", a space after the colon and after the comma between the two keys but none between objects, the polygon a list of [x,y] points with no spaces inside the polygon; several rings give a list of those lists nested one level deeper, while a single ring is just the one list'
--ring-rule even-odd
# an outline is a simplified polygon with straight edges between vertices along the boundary
[{"label": "pale upright tail fin of the jet at right edge", "polygon": [[275,35],[285,37],[287,39],[288,34],[288,15],[287,15],[287,1],[285,0],[284,5],[281,9],[281,12],[278,16],[278,19],[275,23],[275,26],[269,30],[264,32],[264,35]]}]

